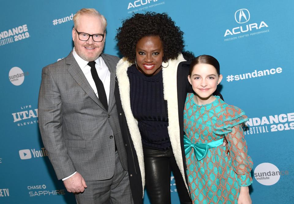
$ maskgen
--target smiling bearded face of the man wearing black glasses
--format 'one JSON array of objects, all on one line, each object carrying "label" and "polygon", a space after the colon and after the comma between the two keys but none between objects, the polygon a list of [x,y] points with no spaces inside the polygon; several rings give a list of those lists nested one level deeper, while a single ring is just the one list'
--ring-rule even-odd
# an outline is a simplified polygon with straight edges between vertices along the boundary
[{"label": "smiling bearded face of the man wearing black glasses", "polygon": [[79,40],[75,28],[73,28],[74,49],[84,60],[90,62],[96,60],[103,51],[105,42],[104,26],[100,17],[81,15],[76,25],[78,32],[92,34],[104,34],[102,42],[95,42],[92,37],[87,41]]}]

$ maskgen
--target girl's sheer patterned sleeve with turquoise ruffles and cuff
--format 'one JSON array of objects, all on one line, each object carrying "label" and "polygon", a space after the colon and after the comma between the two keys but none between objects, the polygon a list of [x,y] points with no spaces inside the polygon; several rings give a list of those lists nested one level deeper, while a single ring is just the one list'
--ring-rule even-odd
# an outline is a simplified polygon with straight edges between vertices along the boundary
[{"label": "girl's sheer patterned sleeve with turquoise ruffles and cuff", "polygon": [[224,134],[228,141],[232,167],[239,186],[249,186],[252,183],[250,172],[253,162],[247,154],[247,143],[242,128],[243,123],[247,120],[244,111],[229,105],[213,127],[215,134]]}]

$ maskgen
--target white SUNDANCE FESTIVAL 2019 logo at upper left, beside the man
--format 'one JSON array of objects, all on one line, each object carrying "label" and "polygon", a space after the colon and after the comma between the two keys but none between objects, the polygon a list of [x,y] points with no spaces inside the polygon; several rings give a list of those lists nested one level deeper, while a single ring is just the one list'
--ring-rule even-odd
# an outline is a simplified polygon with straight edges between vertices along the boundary
[{"label": "white SUNDANCE FESTIVAL 2019 logo at upper left, beside the man", "polygon": [[30,37],[30,34],[28,33],[28,26],[26,24],[20,25],[15,28],[0,32],[0,46],[14,43],[28,37]]}]

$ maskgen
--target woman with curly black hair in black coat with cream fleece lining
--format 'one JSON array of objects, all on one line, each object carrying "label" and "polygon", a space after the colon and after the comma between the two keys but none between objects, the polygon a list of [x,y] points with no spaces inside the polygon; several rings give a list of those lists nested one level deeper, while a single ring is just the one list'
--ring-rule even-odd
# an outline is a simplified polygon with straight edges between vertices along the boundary
[{"label": "woman with curly black hair in black coat with cream fleece lining", "polygon": [[116,40],[125,57],[117,64],[121,100],[115,99],[134,203],[142,203],[144,187],[152,204],[170,203],[171,171],[180,202],[191,203],[183,107],[192,89],[187,80],[190,62],[181,53],[183,32],[165,13],[137,13],[123,22]]}]

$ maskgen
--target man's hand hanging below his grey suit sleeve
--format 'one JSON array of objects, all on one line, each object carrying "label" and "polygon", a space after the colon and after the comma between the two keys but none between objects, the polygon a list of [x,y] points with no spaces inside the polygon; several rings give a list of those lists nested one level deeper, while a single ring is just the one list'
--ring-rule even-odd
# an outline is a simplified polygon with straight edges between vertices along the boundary
[{"label": "man's hand hanging below his grey suit sleeve", "polygon": [[68,192],[81,193],[87,187],[86,182],[81,174],[77,172],[74,176],[63,181]]}]

